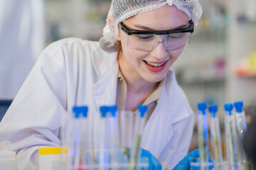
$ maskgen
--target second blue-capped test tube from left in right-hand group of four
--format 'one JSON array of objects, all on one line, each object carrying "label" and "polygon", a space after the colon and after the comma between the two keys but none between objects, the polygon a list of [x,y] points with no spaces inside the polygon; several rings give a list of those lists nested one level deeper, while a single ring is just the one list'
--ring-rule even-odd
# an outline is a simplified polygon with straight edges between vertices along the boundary
[{"label": "second blue-capped test tube from left in right-hand group of four", "polygon": [[218,118],[218,106],[208,107],[210,113],[210,142],[215,157],[215,169],[223,169],[223,154],[221,150],[220,123]]}]

